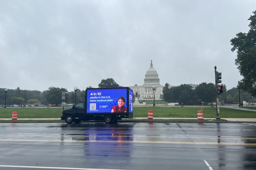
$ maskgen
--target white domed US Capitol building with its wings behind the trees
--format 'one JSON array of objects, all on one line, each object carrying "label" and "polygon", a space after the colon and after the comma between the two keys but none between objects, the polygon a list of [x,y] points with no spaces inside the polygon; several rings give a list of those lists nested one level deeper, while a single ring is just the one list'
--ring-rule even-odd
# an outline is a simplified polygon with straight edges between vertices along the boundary
[{"label": "white domed US Capitol building with its wings behind the trees", "polygon": [[[189,84],[192,86],[193,89],[195,89],[198,84]],[[134,94],[138,94],[138,99],[140,101],[146,101],[146,100],[153,100],[154,99],[154,91],[153,87],[155,87],[155,100],[163,100],[163,87],[160,84],[160,79],[158,77],[158,73],[156,69],[153,68],[152,60],[150,64],[150,68],[147,70],[144,84],[141,86],[138,86],[135,84],[134,86],[130,86],[129,88],[133,90]],[[175,87],[169,85],[169,88]]]}]

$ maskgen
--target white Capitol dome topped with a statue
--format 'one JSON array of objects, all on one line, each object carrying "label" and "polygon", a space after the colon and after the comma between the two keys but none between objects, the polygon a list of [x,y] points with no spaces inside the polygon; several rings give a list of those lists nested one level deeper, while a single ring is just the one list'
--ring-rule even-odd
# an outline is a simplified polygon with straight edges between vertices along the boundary
[{"label": "white Capitol dome topped with a statue", "polygon": [[153,68],[152,60],[150,68],[147,70],[144,85],[160,85],[160,79],[158,78],[158,73],[156,69]]}]

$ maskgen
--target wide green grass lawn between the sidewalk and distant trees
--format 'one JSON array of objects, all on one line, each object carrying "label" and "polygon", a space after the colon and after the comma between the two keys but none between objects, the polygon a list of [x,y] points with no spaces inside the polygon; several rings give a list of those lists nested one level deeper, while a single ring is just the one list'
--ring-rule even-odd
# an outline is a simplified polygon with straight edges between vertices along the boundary
[{"label": "wide green grass lawn between the sidewalk and distant trees", "polygon": [[[250,107],[251,108],[251,107]],[[69,108],[64,108],[69,109]],[[154,117],[197,117],[201,107],[134,107],[134,117],[147,117],[148,110]],[[215,118],[215,107],[202,107],[205,118]],[[18,112],[18,118],[60,118],[62,108],[0,108],[0,118],[11,118],[12,112]],[[256,118],[256,112],[220,108],[223,118]]]}]

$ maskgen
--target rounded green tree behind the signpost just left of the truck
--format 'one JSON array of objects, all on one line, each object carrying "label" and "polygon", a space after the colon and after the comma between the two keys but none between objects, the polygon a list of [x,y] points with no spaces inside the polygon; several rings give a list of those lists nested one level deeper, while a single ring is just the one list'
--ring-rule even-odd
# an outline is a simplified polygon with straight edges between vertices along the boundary
[{"label": "rounded green tree behind the signpost just left of the truck", "polygon": [[45,99],[49,104],[60,104],[62,102],[62,92],[65,91],[67,92],[67,89],[65,88],[55,88],[55,87],[50,87],[45,95]]}]

